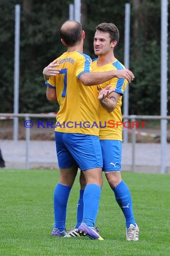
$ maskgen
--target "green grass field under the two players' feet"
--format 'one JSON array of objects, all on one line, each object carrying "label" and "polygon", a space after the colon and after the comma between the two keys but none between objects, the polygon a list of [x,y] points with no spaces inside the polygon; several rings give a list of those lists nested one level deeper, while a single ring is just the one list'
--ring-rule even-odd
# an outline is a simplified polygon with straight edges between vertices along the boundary
[{"label": "green grass field under the two players' feet", "polygon": [[[106,180],[96,222],[105,240],[51,237],[58,175],[51,170],[0,170],[0,256],[170,255],[170,175],[122,173],[140,228],[138,242],[126,241],[124,217]],[[78,195],[77,177],[67,229],[76,224]]]}]

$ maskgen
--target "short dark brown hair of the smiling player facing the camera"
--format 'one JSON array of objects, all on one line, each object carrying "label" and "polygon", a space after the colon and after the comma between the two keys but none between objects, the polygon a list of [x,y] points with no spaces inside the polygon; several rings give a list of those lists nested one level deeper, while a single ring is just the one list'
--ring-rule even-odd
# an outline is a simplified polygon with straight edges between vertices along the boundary
[{"label": "short dark brown hair of the smiling player facing the camera", "polygon": [[117,44],[119,42],[119,30],[117,26],[113,23],[106,23],[103,22],[96,26],[96,31],[102,31],[102,32],[107,32],[110,35],[110,43],[112,41],[117,41]]}]

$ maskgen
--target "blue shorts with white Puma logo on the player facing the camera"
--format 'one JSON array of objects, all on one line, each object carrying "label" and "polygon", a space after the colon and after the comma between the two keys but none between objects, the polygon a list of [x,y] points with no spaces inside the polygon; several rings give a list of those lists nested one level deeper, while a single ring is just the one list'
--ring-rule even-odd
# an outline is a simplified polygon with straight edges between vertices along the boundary
[{"label": "blue shorts with white Puma logo on the player facing the camera", "polygon": [[100,140],[103,156],[103,172],[120,172],[122,141]]}]

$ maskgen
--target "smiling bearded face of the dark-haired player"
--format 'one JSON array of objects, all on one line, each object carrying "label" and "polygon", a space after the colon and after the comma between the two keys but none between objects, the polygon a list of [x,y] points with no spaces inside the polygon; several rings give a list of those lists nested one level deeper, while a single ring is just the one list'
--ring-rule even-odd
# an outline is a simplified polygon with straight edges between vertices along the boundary
[{"label": "smiling bearded face of the dark-haired player", "polygon": [[106,55],[108,53],[113,53],[113,49],[117,42],[110,42],[110,34],[108,32],[96,31],[94,35],[94,53],[95,55]]}]

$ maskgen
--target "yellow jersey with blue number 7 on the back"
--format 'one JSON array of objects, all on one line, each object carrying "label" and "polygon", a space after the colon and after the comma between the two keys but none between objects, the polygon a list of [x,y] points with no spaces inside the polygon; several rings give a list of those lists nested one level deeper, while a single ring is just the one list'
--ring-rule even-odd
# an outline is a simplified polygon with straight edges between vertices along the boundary
[{"label": "yellow jersey with blue number 7 on the back", "polygon": [[85,86],[81,74],[91,72],[91,58],[81,52],[65,52],[58,60],[59,75],[51,76],[46,84],[56,90],[59,112],[55,131],[97,135],[99,106],[96,86]]}]

